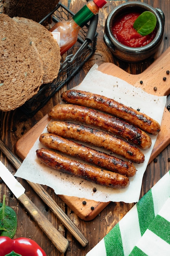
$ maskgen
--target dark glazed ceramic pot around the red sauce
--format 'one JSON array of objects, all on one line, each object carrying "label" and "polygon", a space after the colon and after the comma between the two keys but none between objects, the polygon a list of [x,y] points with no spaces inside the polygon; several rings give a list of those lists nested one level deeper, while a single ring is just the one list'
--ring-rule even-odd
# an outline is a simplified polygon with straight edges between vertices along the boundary
[{"label": "dark glazed ceramic pot around the red sauce", "polygon": [[[155,14],[157,18],[157,34],[152,42],[142,47],[128,47],[119,43],[112,33],[113,22],[116,20],[116,18],[119,17],[121,14],[130,12],[142,13],[144,11],[151,11]],[[163,39],[164,23],[165,16],[161,9],[153,8],[143,2],[126,2],[118,5],[113,9],[113,11],[109,13],[105,24],[104,42],[106,43],[112,54],[123,61],[143,61],[144,59],[154,54],[159,48]]]}]

